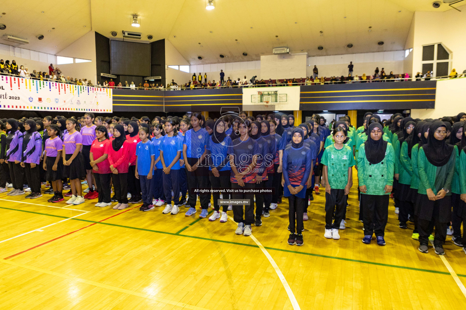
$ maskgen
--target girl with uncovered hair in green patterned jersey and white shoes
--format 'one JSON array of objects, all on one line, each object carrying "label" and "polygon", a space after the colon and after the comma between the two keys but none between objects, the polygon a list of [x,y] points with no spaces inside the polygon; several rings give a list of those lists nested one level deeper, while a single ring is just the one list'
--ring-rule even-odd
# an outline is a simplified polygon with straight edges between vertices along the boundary
[{"label": "girl with uncovered hair in green patterned jersey and white shoes", "polygon": [[[344,220],[346,198],[353,186],[353,169],[356,165],[353,150],[346,144],[346,129],[336,123],[332,133],[335,143],[325,148],[322,154],[323,178],[325,181],[325,234],[326,238],[340,239],[338,229]],[[333,215],[335,221],[332,223]]]}]

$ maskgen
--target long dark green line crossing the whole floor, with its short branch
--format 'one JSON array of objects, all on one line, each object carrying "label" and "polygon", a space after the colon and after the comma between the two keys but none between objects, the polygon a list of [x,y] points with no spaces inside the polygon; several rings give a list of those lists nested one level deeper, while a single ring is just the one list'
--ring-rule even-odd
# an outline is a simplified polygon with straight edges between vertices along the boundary
[{"label": "long dark green line crossing the whole floor, with its short branch", "polygon": [[[26,211],[26,210],[19,210],[19,209],[12,209],[12,208],[5,208],[5,207],[0,207],[0,209],[6,209],[6,210],[12,210],[12,211],[21,211],[21,212],[27,212],[27,213],[33,213],[33,214],[38,214],[38,215],[47,215],[47,216],[52,216],[55,218],[68,218],[68,217],[63,217],[59,215],[52,215],[52,214],[47,214],[47,213],[40,213],[40,212],[34,212],[34,211]],[[211,211],[212,212],[212,211]],[[200,219],[200,218],[199,218]],[[198,219],[198,220],[199,220]],[[119,224],[111,224],[111,223],[105,223],[105,222],[96,222],[96,221],[90,221],[82,218],[72,218],[72,220],[76,221],[82,221],[82,222],[88,222],[88,223],[96,223],[96,224],[102,224],[102,225],[109,225],[109,226],[115,226],[115,227],[122,227],[122,228],[128,228],[128,229],[136,229],[139,231],[149,231],[149,232],[156,232],[164,235],[171,235],[171,236],[181,236],[181,237],[187,237],[187,238],[193,238],[193,239],[199,239],[199,240],[206,240],[206,241],[213,241],[213,242],[221,242],[221,243],[226,243],[226,244],[235,244],[235,245],[243,245],[243,246],[249,246],[253,248],[259,248],[258,245],[256,244],[245,244],[245,243],[240,243],[240,242],[233,242],[233,241],[226,241],[226,240],[218,240],[218,239],[211,239],[211,238],[204,238],[204,237],[198,237],[198,236],[189,236],[189,235],[181,235],[180,232],[184,231],[186,228],[189,226],[186,226],[185,228],[181,229],[180,231],[173,233],[173,232],[167,232],[167,231],[155,231],[151,229],[146,229],[146,228],[138,228],[138,227],[132,227],[132,226],[125,226],[125,225],[119,225]],[[196,221],[198,221],[196,220]],[[194,221],[194,222],[196,222]],[[194,224],[194,222],[192,224]],[[384,266],[384,267],[392,267],[392,268],[399,268],[399,269],[407,269],[407,270],[415,270],[415,271],[424,271],[424,272],[430,272],[430,273],[437,273],[441,275],[450,275],[449,272],[445,271],[437,271],[437,270],[429,270],[429,269],[422,269],[422,268],[414,268],[414,267],[406,267],[406,266],[398,266],[398,265],[391,265],[391,264],[382,264],[382,263],[376,263],[376,262],[368,262],[368,261],[363,261],[363,260],[358,260],[358,259],[351,259],[351,258],[344,258],[344,257],[335,257],[335,256],[328,256],[328,255],[321,255],[321,254],[314,254],[314,253],[308,253],[308,252],[301,252],[301,251],[291,251],[291,250],[285,250],[285,249],[277,249],[277,248],[272,248],[265,246],[267,250],[273,250],[273,251],[281,251],[281,252],[288,252],[288,253],[295,253],[295,254],[302,254],[302,255],[308,255],[308,256],[313,256],[313,257],[322,257],[322,258],[330,258],[330,259],[338,259],[338,260],[343,260],[343,261],[348,261],[348,262],[354,262],[354,263],[361,263],[361,264],[371,264],[371,265],[378,265],[378,266]],[[457,274],[458,277],[466,277],[466,275],[462,274]]]}]

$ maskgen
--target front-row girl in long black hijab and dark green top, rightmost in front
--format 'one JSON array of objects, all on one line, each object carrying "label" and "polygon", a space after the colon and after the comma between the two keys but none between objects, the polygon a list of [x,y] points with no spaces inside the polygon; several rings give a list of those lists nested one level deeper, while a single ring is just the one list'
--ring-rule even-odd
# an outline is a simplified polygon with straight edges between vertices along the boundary
[{"label": "front-row girl in long black hijab and dark green top, rightmost in front", "polygon": [[456,154],[453,146],[445,143],[446,125],[435,121],[429,127],[427,143],[419,149],[419,251],[427,253],[429,225],[435,224],[435,253],[444,255],[442,244],[450,222],[451,188]]}]

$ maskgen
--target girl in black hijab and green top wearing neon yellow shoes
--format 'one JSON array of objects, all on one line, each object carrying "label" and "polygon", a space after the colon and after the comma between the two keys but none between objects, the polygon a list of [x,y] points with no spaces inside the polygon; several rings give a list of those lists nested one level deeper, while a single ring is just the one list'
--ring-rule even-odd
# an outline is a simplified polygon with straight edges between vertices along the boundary
[{"label": "girl in black hijab and green top wearing neon yellow shoes", "polygon": [[[419,213],[419,205],[418,205],[418,189],[419,189],[419,172],[418,172],[418,152],[419,148],[427,143],[427,136],[429,135],[429,127],[430,123],[426,122],[419,122],[416,125],[415,129],[415,136],[408,138],[408,156],[411,158],[411,203],[413,204],[413,220],[414,220],[414,230],[412,231],[412,236],[414,240],[419,240],[419,233],[418,233],[418,213]],[[417,138],[416,138],[417,137]],[[413,145],[410,149],[410,145]],[[411,150],[411,151],[410,151]],[[433,227],[432,227],[433,229]],[[432,239],[432,240],[431,240]],[[429,241],[433,241],[433,236],[430,235]]]}]

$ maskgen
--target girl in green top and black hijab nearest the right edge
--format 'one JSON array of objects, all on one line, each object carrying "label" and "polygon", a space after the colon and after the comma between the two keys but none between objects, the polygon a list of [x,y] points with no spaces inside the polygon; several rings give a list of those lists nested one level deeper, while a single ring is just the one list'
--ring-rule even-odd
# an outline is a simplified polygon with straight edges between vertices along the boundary
[{"label": "girl in green top and black hijab nearest the right edge", "polygon": [[[452,241],[454,244],[466,248],[466,237],[461,240],[461,222],[463,222],[463,236],[466,236],[466,122],[453,124],[464,124],[459,141],[455,144],[455,174],[452,180]],[[452,133],[453,136],[454,132]],[[461,170],[463,169],[463,171]],[[466,253],[466,252],[465,252]]]}]

